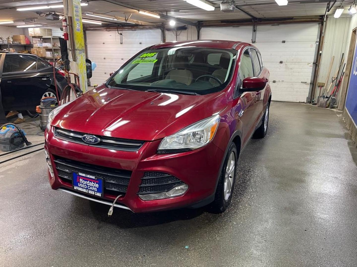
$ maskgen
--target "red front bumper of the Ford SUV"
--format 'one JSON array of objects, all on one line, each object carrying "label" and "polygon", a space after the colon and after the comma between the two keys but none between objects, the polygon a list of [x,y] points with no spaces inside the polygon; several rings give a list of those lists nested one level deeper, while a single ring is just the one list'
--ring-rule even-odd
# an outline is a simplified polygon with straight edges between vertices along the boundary
[{"label": "red front bumper of the Ford SUV", "polygon": [[[61,157],[95,166],[130,171],[131,176],[126,193],[119,197],[116,204],[119,208],[130,209],[136,213],[195,206],[204,199],[212,199],[215,193],[224,152],[213,142],[195,151],[157,155],[157,147],[161,140],[145,142],[135,152],[117,151],[61,140],[54,136],[53,130],[51,127],[51,130],[45,133],[45,149],[49,152],[53,167],[53,175],[49,171],[52,189],[66,190],[67,193],[101,203],[105,202],[103,204],[111,204],[120,194],[104,193],[104,198],[98,199],[73,191],[72,185],[62,180],[56,170],[55,157]],[[145,172],[170,174],[187,184],[188,190],[178,197],[144,201],[139,197],[138,192]]]}]

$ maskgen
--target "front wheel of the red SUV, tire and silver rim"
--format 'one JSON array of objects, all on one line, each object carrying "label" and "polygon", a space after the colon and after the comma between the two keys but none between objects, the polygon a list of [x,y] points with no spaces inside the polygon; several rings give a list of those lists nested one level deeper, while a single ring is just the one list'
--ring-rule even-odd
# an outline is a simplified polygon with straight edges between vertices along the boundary
[{"label": "front wheel of the red SUV, tire and silver rim", "polygon": [[223,213],[231,203],[234,183],[236,180],[237,161],[237,147],[235,143],[232,142],[228,149],[218,180],[215,200],[211,205],[211,211],[213,213]]}]

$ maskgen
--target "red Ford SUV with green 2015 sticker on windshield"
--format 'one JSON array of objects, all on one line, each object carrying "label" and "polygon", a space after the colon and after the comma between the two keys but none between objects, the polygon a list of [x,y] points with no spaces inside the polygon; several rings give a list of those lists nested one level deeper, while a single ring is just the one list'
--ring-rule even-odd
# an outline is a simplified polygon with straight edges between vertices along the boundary
[{"label": "red Ford SUV with green 2015 sticker on windshield", "polygon": [[48,117],[52,189],[134,212],[230,204],[237,160],[266,135],[269,72],[256,47],[161,43]]}]

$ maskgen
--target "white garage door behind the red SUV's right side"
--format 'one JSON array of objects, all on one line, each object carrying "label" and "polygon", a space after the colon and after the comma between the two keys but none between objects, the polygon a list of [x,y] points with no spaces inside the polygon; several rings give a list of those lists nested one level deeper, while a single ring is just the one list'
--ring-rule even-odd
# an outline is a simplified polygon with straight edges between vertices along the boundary
[{"label": "white garage door behind the red SUV's right side", "polygon": [[[254,45],[270,70],[272,100],[306,101],[318,27],[318,23],[257,26]],[[202,28],[201,38],[250,43],[252,26]]]}]

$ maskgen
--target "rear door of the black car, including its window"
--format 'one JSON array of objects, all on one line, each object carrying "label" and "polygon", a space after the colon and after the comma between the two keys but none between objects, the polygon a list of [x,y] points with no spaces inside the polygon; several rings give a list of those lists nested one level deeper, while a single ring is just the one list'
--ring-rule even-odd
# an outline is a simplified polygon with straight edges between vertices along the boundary
[{"label": "rear door of the black car, including its window", "polygon": [[6,54],[2,73],[2,102],[5,110],[34,110],[51,85],[53,74],[37,71],[37,57]]}]

